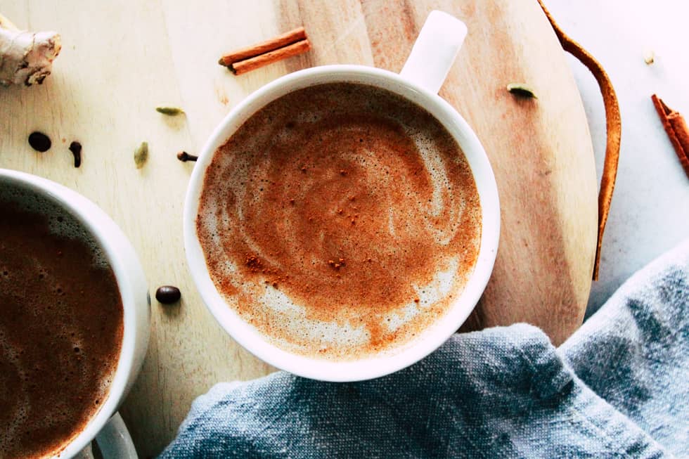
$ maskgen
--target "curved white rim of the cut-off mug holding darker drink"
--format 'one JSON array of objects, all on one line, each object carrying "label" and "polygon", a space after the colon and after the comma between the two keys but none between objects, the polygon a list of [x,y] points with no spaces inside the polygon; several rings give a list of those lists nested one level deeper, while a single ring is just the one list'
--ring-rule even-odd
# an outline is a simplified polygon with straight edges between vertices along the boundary
[{"label": "curved white rim of the cut-off mug holding darker drink", "polygon": [[[11,169],[0,169],[0,181],[6,179],[10,183],[18,184],[18,186],[32,193],[41,195],[41,197],[69,212],[77,220],[77,223],[86,229],[89,235],[96,240],[98,247],[103,250],[103,254],[105,254],[105,258],[115,274],[117,287],[120,290],[123,310],[122,347],[120,349],[120,356],[117,358],[117,368],[115,369],[115,376],[112,378],[112,382],[110,382],[108,394],[105,396],[105,401],[98,408],[96,415],[86,422],[85,427],[75,437],[72,437],[64,448],[59,449],[51,456],[53,458],[72,458],[79,451],[86,448],[91,441],[94,441],[98,432],[101,432],[108,420],[115,414],[127,393],[127,383],[131,373],[139,370],[139,368],[134,368],[137,333],[136,302],[139,300],[136,298],[133,285],[129,283],[129,273],[122,257],[117,253],[110,240],[98,231],[89,212],[79,207],[79,204],[75,204],[75,202],[79,202],[78,200],[75,201],[75,198],[85,200],[94,206],[95,204],[79,195],[76,191],[70,190],[70,188],[33,174]],[[70,199],[67,199],[67,197]],[[103,212],[103,214],[105,213]]]}]

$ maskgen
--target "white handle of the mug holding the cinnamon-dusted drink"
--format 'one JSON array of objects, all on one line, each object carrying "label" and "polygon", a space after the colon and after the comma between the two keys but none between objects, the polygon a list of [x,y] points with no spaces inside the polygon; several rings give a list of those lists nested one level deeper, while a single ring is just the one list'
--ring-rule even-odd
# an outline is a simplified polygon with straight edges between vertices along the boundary
[{"label": "white handle of the mug holding the cinnamon-dusted drink", "polygon": [[437,93],[466,36],[464,22],[442,11],[431,11],[399,75]]}]

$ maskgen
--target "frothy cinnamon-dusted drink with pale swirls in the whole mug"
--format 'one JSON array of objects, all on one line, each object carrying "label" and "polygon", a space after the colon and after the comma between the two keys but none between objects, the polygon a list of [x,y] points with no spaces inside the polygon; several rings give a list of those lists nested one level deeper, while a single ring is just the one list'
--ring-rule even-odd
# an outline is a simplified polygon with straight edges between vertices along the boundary
[{"label": "frothy cinnamon-dusted drink with pale swirls in the whole mug", "polygon": [[278,98],[221,146],[196,219],[228,304],[288,351],[393,351],[441,318],[475,266],[475,181],[430,113],[361,84]]}]

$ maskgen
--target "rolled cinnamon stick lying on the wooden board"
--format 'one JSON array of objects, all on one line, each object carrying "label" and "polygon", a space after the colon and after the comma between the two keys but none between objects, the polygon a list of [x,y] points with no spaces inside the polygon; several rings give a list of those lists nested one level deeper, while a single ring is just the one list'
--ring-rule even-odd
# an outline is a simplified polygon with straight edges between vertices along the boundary
[{"label": "rolled cinnamon stick lying on the wooden board", "polygon": [[299,27],[263,43],[248,46],[222,56],[218,63],[235,75],[276,63],[278,60],[306,53],[311,49],[304,27]]}]

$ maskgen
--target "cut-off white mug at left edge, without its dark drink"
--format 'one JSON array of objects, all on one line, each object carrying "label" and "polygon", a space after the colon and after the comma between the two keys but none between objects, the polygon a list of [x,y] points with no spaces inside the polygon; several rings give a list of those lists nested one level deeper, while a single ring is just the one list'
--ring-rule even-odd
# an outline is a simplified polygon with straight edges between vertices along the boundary
[{"label": "cut-off white mug at left edge, without its dark drink", "polygon": [[0,187],[36,193],[74,216],[103,250],[115,273],[122,297],[122,349],[108,396],[98,413],[86,423],[86,427],[54,457],[89,457],[91,441],[96,439],[105,459],[137,458],[127,427],[117,413],[117,408],[139,374],[148,347],[150,299],[146,276],[134,247],[102,209],[58,183],[23,172],[0,169]]}]

